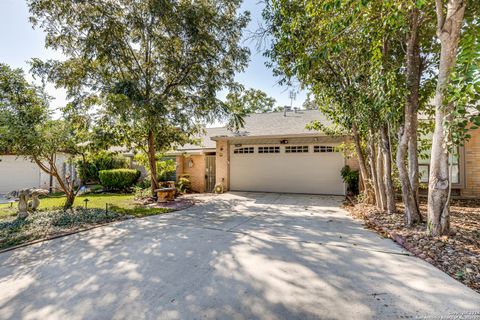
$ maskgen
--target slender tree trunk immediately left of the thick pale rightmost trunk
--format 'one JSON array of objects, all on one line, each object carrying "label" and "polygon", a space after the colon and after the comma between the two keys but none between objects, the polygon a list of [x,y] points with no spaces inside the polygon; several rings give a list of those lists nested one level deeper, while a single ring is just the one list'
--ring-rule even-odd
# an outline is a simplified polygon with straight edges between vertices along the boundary
[{"label": "slender tree trunk immediately left of the thick pale rightmost trunk", "polygon": [[[400,126],[398,134],[396,159],[398,175],[402,185],[402,198],[405,205],[405,222],[409,226],[421,219],[418,210],[418,195],[414,190],[418,183],[418,163],[415,163],[415,158],[417,157],[417,142],[412,141],[413,139],[417,139],[416,118],[420,100],[420,49],[418,33],[419,10],[414,8],[410,13],[409,35],[407,40],[408,96],[405,103],[404,123]],[[407,168],[406,164],[407,154],[409,155],[410,169]]]}]

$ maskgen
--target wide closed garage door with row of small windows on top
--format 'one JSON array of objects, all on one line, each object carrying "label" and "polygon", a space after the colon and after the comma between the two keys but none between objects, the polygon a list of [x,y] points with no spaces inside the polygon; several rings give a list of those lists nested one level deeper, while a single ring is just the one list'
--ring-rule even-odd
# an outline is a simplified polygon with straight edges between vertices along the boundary
[{"label": "wide closed garage door with row of small windows on top", "polygon": [[331,145],[232,146],[230,189],[344,195],[344,165]]}]

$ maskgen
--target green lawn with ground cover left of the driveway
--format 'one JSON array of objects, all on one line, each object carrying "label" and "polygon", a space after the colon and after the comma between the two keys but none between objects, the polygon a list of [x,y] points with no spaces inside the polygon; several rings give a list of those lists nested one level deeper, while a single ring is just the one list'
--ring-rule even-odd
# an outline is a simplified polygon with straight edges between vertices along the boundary
[{"label": "green lawn with ground cover left of the driveway", "polygon": [[[85,200],[88,199],[87,208]],[[157,215],[168,208],[145,207],[131,194],[89,194],[75,199],[71,210],[63,210],[65,197],[53,196],[40,200],[37,212],[26,219],[17,219],[17,204],[0,204],[0,249],[59,234],[85,230],[95,225],[134,217]],[[108,204],[108,207],[106,206]],[[107,210],[108,208],[108,210]]]}]

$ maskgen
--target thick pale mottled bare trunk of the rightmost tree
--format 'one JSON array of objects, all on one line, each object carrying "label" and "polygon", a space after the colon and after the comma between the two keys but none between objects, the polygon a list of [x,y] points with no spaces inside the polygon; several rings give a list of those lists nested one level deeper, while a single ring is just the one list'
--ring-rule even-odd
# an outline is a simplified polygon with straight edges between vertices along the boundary
[{"label": "thick pale mottled bare trunk of the rightmost tree", "polygon": [[466,1],[449,0],[447,14],[444,16],[443,1],[436,0],[437,35],[441,43],[438,82],[433,104],[435,106],[435,131],[432,140],[430,177],[428,181],[428,223],[427,232],[438,236],[448,234],[450,228],[448,149],[444,121],[452,111],[445,103],[445,91],[450,74],[455,67],[458,41],[465,14]]}]

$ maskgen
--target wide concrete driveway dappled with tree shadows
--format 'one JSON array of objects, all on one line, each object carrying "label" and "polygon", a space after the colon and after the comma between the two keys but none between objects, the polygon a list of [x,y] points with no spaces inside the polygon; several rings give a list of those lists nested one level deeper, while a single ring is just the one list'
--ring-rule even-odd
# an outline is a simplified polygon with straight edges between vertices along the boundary
[{"label": "wide concrete driveway dappled with tree shadows", "polygon": [[480,295],[363,229],[341,198],[199,198],[0,254],[0,317],[480,317]]}]

